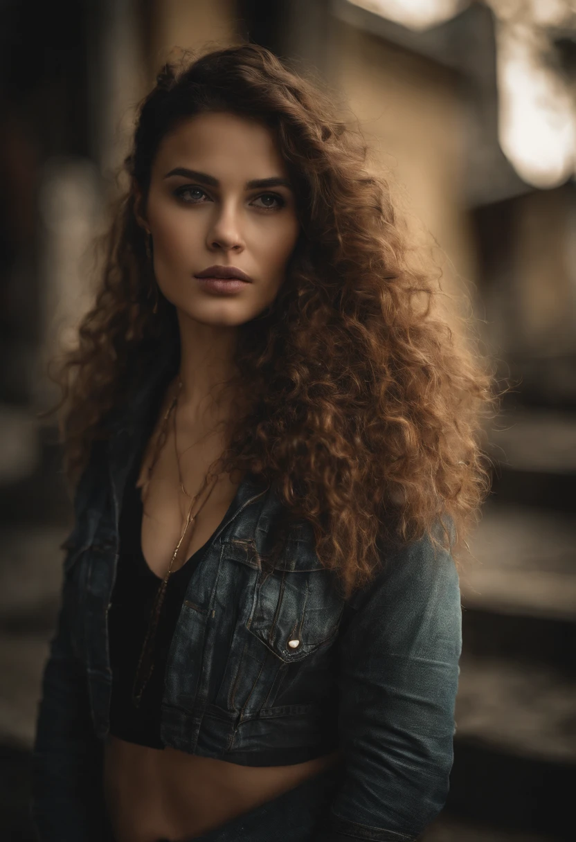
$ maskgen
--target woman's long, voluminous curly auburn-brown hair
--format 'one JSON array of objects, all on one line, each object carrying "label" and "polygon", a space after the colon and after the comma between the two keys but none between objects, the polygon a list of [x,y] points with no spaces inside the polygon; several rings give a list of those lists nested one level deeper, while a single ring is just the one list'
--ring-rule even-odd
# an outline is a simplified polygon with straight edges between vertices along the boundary
[{"label": "woman's long, voluminous curly auburn-brown hair", "polygon": [[107,435],[105,418],[178,332],[161,294],[152,313],[135,186],[147,195],[163,136],[206,111],[264,120],[275,132],[301,223],[274,304],[237,332],[238,382],[253,400],[230,419],[223,465],[274,483],[291,518],[312,525],[317,556],[344,594],[371,580],[383,547],[425,534],[458,565],[490,488],[481,445],[482,417],[499,399],[491,364],[477,352],[472,317],[455,314],[464,328],[456,335],[434,306],[445,295],[437,267],[412,259],[360,127],[258,45],[184,54],[139,106],[95,303],[52,377],[64,472],[76,482]]}]

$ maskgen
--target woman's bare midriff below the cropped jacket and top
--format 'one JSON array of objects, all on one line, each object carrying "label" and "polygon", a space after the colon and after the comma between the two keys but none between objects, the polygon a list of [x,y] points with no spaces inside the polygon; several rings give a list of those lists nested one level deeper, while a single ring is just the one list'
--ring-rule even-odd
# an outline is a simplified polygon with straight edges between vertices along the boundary
[{"label": "woman's bare midriff below the cropped jacket and top", "polygon": [[104,794],[117,842],[182,842],[249,813],[333,765],[338,752],[288,766],[241,766],[109,737]]}]

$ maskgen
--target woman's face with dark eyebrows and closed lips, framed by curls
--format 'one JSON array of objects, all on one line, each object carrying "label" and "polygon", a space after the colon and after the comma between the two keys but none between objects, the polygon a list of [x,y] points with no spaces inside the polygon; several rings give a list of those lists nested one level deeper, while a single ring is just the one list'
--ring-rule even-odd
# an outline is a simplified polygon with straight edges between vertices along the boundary
[{"label": "woman's face with dark eyebrows and closed lips, framed by curls", "polygon": [[[214,325],[242,324],[274,301],[299,233],[272,132],[228,113],[195,115],[164,136],[144,216],[163,295]],[[218,267],[239,269],[251,282],[222,292],[196,277]]]}]

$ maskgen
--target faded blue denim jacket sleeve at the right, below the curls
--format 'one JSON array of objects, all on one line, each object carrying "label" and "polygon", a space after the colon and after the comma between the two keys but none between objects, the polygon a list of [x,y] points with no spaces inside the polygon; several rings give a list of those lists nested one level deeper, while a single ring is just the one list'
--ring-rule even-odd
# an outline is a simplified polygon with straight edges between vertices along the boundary
[{"label": "faded blue denim jacket sleeve at the right, below the curls", "polygon": [[456,566],[425,536],[387,560],[342,632],[344,775],[329,842],[407,842],[440,813],[453,761],[460,654]]}]

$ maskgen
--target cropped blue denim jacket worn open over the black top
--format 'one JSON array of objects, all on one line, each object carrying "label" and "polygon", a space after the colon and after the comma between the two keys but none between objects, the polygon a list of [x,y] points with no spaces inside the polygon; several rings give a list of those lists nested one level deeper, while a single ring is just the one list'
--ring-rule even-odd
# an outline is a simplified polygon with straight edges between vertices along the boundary
[{"label": "cropped blue denim jacket worn open over the black top", "polygon": [[[157,360],[77,486],[34,749],[42,842],[106,838],[119,508],[162,374]],[[461,605],[451,554],[415,542],[343,600],[306,522],[291,525],[270,562],[281,514],[272,488],[248,474],[189,583],[165,676],[163,742],[243,765],[338,747],[344,774],[323,838],[416,839],[445,803],[453,759]]]}]

